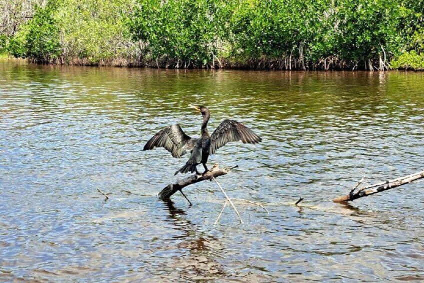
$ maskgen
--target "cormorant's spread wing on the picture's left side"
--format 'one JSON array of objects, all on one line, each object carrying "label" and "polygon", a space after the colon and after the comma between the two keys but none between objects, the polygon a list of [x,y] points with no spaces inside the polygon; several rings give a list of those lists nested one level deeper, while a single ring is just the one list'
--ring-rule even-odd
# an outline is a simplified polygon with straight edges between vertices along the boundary
[{"label": "cormorant's spread wing on the picture's left side", "polygon": [[197,139],[187,136],[178,124],[168,126],[155,134],[145,145],[143,150],[155,147],[164,147],[173,157],[179,158],[190,151]]}]

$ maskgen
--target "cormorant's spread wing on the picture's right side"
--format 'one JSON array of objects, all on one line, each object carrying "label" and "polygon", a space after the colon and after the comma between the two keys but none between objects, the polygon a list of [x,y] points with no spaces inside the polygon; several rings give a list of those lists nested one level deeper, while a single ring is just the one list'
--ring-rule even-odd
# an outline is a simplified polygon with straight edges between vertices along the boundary
[{"label": "cormorant's spread wing on the picture's right side", "polygon": [[258,135],[243,124],[234,120],[223,120],[210,136],[209,152],[213,154],[227,142],[239,140],[243,143],[258,143],[262,141]]}]

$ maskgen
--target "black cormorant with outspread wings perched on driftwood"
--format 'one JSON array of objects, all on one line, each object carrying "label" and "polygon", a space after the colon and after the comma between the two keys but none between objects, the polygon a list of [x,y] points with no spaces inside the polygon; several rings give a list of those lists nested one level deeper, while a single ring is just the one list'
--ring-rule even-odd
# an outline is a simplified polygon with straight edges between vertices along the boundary
[{"label": "black cormorant with outspread wings perched on driftwood", "polygon": [[223,120],[216,130],[209,135],[207,131],[207,122],[209,121],[209,110],[204,106],[193,106],[203,116],[203,123],[201,124],[200,138],[191,138],[187,136],[178,124],[168,126],[155,134],[145,145],[143,150],[153,149],[155,147],[164,147],[169,151],[173,157],[179,158],[187,151],[191,152],[190,158],[182,166],[181,169],[175,172],[187,173],[197,172],[196,166],[203,164],[205,171],[207,171],[206,162],[209,155],[224,146],[227,142],[239,141],[243,143],[258,143],[262,139],[246,128],[243,124],[234,120]]}]

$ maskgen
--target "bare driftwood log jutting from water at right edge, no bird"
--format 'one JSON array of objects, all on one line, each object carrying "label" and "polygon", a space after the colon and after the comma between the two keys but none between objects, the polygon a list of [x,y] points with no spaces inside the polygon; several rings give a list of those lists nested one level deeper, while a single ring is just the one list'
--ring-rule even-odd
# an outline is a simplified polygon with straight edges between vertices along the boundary
[{"label": "bare driftwood log jutting from water at right edge, no bird", "polygon": [[393,180],[387,180],[387,181],[376,183],[369,186],[363,186],[355,192],[355,189],[359,186],[361,181],[363,181],[363,178],[362,178],[362,180],[356,184],[356,186],[350,191],[349,194],[334,198],[332,201],[334,202],[351,201],[360,197],[368,196],[368,195],[379,193],[379,192],[392,189],[404,184],[408,184],[421,178],[424,178],[424,171],[403,176],[403,177],[399,177]]}]

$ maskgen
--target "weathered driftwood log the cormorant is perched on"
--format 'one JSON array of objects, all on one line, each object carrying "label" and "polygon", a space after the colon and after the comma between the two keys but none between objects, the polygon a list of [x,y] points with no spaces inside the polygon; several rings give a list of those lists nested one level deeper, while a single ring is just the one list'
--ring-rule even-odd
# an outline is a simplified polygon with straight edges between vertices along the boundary
[{"label": "weathered driftwood log the cormorant is perched on", "polygon": [[[182,195],[187,199],[187,197],[182,192],[182,188],[194,183],[198,183],[204,180],[212,180],[213,178],[228,174],[229,171],[235,167],[237,166],[234,166],[231,168],[219,168],[218,164],[215,164],[209,171],[205,172],[204,174],[201,174],[201,175],[193,174],[188,176],[187,178],[178,180],[174,184],[167,185],[158,193],[158,197],[161,200],[169,200],[174,193],[176,193],[177,191],[180,191]],[[190,201],[188,200],[188,202]]]}]

